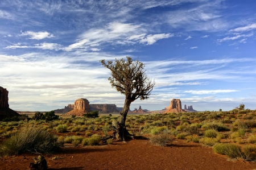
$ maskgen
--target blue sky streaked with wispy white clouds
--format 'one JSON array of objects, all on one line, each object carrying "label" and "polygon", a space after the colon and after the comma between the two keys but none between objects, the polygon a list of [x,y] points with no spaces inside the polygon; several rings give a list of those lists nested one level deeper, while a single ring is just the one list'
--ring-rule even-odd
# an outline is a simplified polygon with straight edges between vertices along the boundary
[{"label": "blue sky streaked with wispy white clouds", "polygon": [[18,111],[64,108],[76,99],[122,107],[99,60],[126,56],[155,80],[133,110],[173,98],[193,109],[256,109],[256,1],[0,2],[0,86]]}]

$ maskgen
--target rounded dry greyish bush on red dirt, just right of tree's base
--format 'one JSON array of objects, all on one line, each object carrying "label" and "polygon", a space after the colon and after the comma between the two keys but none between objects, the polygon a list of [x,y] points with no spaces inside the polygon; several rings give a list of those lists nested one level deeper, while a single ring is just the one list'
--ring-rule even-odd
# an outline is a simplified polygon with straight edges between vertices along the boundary
[{"label": "rounded dry greyish bush on red dirt, just right of tree's base", "polygon": [[156,146],[166,146],[168,143],[172,143],[172,136],[168,133],[161,133],[151,136],[150,143]]}]

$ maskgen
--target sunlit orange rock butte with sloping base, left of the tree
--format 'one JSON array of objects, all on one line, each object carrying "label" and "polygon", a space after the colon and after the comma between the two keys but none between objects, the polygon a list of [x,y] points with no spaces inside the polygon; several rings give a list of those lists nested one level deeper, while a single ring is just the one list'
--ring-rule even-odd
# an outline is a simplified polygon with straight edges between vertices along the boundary
[{"label": "sunlit orange rock butte with sloping base, left of the tree", "polygon": [[86,98],[77,99],[73,106],[73,110],[67,114],[82,116],[82,114],[90,111],[89,101]]}]

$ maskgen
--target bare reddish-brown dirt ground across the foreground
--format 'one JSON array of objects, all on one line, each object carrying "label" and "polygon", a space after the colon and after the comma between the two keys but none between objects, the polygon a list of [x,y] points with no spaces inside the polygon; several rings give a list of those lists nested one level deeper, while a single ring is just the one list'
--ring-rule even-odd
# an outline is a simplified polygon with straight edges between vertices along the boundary
[{"label": "bare reddish-brown dirt ground across the foreground", "polygon": [[[2,157],[0,169],[28,169],[32,157],[23,154]],[[61,154],[44,155],[48,169],[256,169],[256,163],[228,160],[212,148],[174,140],[167,147],[152,146],[147,140],[131,140],[111,146],[66,147]],[[65,157],[51,160],[54,156]],[[18,161],[19,160],[19,161]]]}]

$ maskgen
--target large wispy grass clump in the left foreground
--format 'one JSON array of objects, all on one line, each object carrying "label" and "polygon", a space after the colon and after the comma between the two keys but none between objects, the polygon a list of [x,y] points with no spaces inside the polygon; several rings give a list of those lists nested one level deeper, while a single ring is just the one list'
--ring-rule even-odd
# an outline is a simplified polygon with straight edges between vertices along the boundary
[{"label": "large wispy grass clump in the left foreground", "polygon": [[24,127],[0,147],[0,155],[17,155],[24,152],[51,153],[58,150],[57,136],[40,128]]}]

